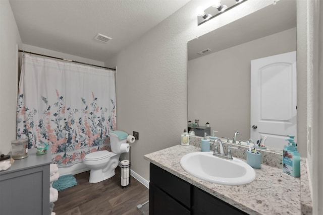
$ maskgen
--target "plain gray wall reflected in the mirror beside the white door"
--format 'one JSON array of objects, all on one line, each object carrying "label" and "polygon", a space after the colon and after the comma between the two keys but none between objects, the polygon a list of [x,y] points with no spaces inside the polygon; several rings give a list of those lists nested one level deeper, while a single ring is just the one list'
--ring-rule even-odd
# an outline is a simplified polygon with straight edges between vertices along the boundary
[{"label": "plain gray wall reflected in the mirror beside the white door", "polygon": [[188,120],[250,138],[250,61],[296,51],[296,28],[188,61]]}]

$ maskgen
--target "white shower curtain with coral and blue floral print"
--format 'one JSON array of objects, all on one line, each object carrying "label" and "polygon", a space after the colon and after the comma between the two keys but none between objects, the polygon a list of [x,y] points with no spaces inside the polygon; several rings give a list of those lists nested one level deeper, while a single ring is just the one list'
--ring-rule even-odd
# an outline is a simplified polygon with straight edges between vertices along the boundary
[{"label": "white shower curtain with coral and blue floral print", "polygon": [[50,145],[58,166],[82,162],[110,150],[115,101],[115,71],[23,54],[17,138],[28,138],[28,148]]}]

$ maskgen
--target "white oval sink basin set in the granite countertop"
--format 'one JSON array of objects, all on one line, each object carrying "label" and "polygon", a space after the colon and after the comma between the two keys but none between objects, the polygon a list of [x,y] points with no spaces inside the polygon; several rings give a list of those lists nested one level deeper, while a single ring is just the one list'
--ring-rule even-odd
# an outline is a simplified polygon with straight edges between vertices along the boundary
[{"label": "white oval sink basin set in the granite countertop", "polygon": [[252,182],[256,173],[247,163],[233,158],[218,158],[212,152],[194,152],[181,158],[182,168],[197,178],[224,185],[242,185]]}]

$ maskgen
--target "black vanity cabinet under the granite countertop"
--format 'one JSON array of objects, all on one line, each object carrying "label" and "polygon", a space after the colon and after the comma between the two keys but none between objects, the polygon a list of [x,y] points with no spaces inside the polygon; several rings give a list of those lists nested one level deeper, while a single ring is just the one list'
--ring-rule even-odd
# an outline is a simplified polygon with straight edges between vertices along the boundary
[{"label": "black vanity cabinet under the granite countertop", "polygon": [[150,163],[149,215],[247,214]]}]

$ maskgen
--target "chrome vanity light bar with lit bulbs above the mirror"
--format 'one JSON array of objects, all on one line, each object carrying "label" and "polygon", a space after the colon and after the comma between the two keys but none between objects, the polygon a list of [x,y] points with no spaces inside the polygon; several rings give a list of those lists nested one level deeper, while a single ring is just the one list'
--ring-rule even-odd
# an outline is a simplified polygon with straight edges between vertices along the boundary
[{"label": "chrome vanity light bar with lit bulbs above the mirror", "polygon": [[221,0],[215,0],[214,4],[205,10],[203,10],[202,7],[198,7],[197,12],[197,25],[201,25],[204,22],[207,22],[210,19],[213,19],[216,16],[219,16],[220,14],[225,13],[226,11],[229,11],[230,9],[240,5],[241,3],[245,2],[247,0],[227,0],[226,5],[223,5],[221,3]]}]

